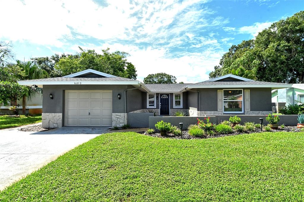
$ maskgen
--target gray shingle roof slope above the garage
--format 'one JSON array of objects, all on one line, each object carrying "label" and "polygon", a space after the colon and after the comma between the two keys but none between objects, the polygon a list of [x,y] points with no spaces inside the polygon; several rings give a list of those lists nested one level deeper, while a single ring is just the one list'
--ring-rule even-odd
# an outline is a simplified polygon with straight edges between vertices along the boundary
[{"label": "gray shingle roof slope above the garage", "polygon": [[103,78],[74,78],[74,77],[55,77],[55,78],[47,78],[47,79],[33,79],[35,81],[135,81],[133,79],[127,79],[122,77],[103,77]]}]

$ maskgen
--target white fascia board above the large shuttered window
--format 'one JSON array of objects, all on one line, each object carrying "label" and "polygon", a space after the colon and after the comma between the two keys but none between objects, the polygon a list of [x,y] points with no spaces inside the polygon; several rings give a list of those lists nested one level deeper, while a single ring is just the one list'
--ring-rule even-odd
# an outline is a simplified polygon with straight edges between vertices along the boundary
[{"label": "white fascia board above the large shuttered window", "polygon": [[291,84],[284,85],[189,85],[186,88],[271,88],[271,89],[280,89],[280,88],[290,88]]}]

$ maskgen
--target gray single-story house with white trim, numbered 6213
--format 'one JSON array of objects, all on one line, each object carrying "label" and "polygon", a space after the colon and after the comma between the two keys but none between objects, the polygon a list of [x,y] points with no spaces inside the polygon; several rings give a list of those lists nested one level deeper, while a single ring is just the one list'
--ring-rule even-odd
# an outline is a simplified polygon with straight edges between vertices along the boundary
[{"label": "gray single-story house with white trim, numbered 6213", "polygon": [[44,128],[121,126],[127,123],[127,113],[151,109],[160,116],[176,111],[190,116],[267,114],[271,90],[291,87],[231,74],[193,84],[143,84],[92,69],[19,84],[43,87]]}]

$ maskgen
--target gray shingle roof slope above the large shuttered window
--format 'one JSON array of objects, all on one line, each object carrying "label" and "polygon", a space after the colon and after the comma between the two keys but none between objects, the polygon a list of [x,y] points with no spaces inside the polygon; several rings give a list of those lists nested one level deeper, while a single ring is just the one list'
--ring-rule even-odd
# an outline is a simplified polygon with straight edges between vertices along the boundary
[{"label": "gray shingle roof slope above the large shuttered window", "polygon": [[286,83],[273,83],[264,81],[203,81],[191,84],[193,86],[217,86],[217,85],[286,85]]}]

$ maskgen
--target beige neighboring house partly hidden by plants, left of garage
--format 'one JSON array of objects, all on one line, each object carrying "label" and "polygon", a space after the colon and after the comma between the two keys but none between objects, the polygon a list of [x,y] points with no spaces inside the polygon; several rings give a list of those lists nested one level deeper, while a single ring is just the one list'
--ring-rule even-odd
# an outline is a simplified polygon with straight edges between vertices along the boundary
[{"label": "beige neighboring house partly hidden by plants, left of garage", "polygon": [[[22,112],[22,99],[17,100],[17,104],[19,104],[19,112]],[[14,105],[14,102],[7,103],[5,105],[0,106],[0,114],[12,114],[12,111],[9,110],[10,107]],[[36,93],[31,97],[31,99],[26,99],[26,113],[29,114],[41,114],[42,113],[42,95],[40,93]]]}]

